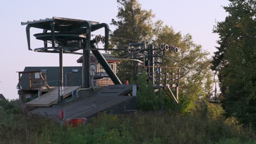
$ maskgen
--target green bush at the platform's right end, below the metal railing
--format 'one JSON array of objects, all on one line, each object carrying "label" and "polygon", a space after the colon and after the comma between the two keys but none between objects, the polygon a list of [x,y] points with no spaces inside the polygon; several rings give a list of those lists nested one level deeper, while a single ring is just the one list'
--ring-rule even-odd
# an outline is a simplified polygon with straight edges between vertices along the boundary
[{"label": "green bush at the platform's right end, below the metal railing", "polygon": [[139,110],[159,110],[162,99],[154,92],[153,83],[147,82],[145,71],[138,75],[137,109]]}]

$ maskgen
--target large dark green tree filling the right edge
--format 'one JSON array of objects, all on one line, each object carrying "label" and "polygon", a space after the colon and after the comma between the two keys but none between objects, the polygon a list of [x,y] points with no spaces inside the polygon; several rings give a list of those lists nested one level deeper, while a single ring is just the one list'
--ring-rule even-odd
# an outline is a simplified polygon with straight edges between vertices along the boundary
[{"label": "large dark green tree filling the right edge", "polygon": [[219,34],[212,69],[218,72],[226,116],[256,128],[256,1],[229,0],[225,21],[213,32]]}]

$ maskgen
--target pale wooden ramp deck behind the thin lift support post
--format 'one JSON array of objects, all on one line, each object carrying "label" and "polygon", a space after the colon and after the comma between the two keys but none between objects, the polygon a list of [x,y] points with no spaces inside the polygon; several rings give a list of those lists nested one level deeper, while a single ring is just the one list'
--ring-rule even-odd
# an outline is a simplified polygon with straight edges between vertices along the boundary
[{"label": "pale wooden ramp deck behind the thin lift support post", "polygon": [[[78,86],[74,87],[63,87],[63,99],[71,95],[72,91],[77,89]],[[26,103],[26,106],[33,106],[33,107],[48,107],[53,104],[56,104],[59,99],[59,89],[55,87],[51,89],[48,93],[43,94],[42,96],[33,99]]]}]

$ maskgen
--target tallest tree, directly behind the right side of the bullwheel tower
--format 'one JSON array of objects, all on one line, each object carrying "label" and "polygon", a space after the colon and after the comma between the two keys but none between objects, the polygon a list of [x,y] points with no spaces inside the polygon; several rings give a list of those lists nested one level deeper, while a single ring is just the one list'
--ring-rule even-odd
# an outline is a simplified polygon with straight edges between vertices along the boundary
[{"label": "tallest tree, directly behind the right side of the bullwheel tower", "polygon": [[[112,19],[111,25],[117,27],[110,35],[110,43],[116,49],[124,49],[130,43],[139,41],[150,41],[152,35],[152,10],[141,9],[141,4],[137,1],[118,0],[118,21]],[[115,51],[113,55],[123,57],[127,55],[127,51]],[[121,81],[131,80],[135,78],[136,62],[122,61],[118,64],[117,75]]]}]

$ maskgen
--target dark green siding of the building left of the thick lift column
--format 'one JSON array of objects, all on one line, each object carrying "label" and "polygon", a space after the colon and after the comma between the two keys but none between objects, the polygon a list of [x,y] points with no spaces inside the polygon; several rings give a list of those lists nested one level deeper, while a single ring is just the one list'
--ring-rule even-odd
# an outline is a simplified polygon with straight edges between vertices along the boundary
[{"label": "dark green siding of the building left of the thick lift column", "polygon": [[[59,86],[59,67],[25,67],[24,71],[34,71],[41,70],[42,72],[46,72],[46,82],[50,87]],[[74,72],[74,70],[78,70]],[[66,86],[66,74],[67,73],[76,73],[72,79],[74,81],[75,86],[82,85],[82,67],[63,67],[63,86]],[[18,77],[18,75],[17,75]],[[22,74],[21,79],[28,79],[28,74]],[[21,87],[28,88],[29,83],[27,80],[21,80]],[[19,85],[17,85],[19,87]]]}]

